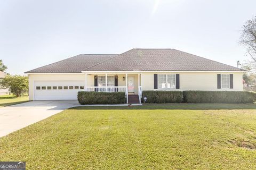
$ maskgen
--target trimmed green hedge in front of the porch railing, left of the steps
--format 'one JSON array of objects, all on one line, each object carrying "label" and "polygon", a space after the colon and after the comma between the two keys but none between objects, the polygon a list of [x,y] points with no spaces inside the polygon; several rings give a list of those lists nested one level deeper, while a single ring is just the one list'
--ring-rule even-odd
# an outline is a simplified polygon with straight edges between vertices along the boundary
[{"label": "trimmed green hedge in front of the porch railing, left of the steps", "polygon": [[78,91],[77,99],[81,105],[124,104],[125,92]]}]

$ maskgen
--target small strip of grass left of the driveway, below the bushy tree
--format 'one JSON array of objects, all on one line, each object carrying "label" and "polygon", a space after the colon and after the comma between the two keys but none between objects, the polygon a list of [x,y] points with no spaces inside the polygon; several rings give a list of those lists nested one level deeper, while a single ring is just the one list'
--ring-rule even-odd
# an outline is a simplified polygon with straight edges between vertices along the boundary
[{"label": "small strip of grass left of the driveway, below the bushy tree", "polygon": [[14,95],[0,96],[0,107],[15,105],[28,101],[28,96],[16,97]]}]

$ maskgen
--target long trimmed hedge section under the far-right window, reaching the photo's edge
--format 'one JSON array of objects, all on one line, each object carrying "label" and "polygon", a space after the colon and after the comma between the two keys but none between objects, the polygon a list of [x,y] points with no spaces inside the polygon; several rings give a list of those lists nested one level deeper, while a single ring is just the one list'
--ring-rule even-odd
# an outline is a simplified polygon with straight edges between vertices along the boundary
[{"label": "long trimmed hedge section under the far-right window, reaching the photo's edge", "polygon": [[186,103],[253,103],[256,93],[251,91],[183,91]]}]

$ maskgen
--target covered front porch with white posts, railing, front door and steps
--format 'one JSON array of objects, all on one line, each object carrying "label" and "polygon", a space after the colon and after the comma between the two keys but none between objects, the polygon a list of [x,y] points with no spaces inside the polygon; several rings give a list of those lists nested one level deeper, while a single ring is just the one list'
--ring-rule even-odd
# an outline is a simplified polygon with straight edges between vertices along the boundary
[{"label": "covered front porch with white posts, railing, front door and steps", "polygon": [[141,73],[85,73],[84,90],[96,92],[125,92],[127,104],[140,104],[142,97]]}]

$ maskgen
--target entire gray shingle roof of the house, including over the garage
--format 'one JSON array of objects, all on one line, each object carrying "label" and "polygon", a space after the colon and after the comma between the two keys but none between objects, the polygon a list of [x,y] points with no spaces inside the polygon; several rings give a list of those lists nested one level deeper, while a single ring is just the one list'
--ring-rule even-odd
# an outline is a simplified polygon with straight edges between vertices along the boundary
[{"label": "entire gray shingle roof of the house, including over the garage", "polygon": [[77,55],[26,73],[82,71],[244,71],[176,49],[131,49],[119,55]]}]

